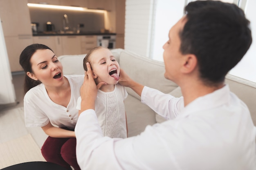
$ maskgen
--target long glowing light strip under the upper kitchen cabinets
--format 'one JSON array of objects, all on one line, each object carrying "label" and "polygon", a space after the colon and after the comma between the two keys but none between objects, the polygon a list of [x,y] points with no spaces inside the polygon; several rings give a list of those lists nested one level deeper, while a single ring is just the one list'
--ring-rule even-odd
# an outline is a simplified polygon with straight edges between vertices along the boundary
[{"label": "long glowing light strip under the upper kitchen cabinets", "polygon": [[38,7],[38,8],[48,8],[48,9],[66,9],[66,10],[74,10],[74,11],[88,11],[88,12],[99,12],[105,13],[105,10],[100,9],[88,9],[83,7],[70,7],[70,6],[61,6],[61,5],[49,5],[49,4],[27,4],[28,7]]}]

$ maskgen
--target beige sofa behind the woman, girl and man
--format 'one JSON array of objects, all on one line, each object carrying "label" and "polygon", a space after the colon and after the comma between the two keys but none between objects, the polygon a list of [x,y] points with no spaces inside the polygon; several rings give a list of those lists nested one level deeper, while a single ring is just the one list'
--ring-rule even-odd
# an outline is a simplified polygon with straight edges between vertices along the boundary
[{"label": "beige sofa behind the woman, girl and man", "polygon": [[[164,78],[163,62],[148,59],[123,49],[114,49],[112,53],[119,62],[120,67],[133,80],[175,97],[182,95],[177,84]],[[58,57],[63,64],[63,73],[84,74],[84,57],[85,54]],[[254,124],[256,124],[256,83],[232,75],[226,76],[226,83],[231,91],[247,104]],[[164,121],[161,116],[157,115],[147,105],[142,104],[140,97],[135,92],[129,88],[127,88],[127,92],[128,97],[124,102],[128,121],[128,136],[138,135],[144,131],[148,124],[152,125]]]}]

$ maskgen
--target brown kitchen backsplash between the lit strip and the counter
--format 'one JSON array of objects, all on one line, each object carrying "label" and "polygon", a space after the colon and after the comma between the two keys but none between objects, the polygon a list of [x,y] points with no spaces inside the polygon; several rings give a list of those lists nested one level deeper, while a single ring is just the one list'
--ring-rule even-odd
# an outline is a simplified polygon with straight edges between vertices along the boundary
[{"label": "brown kitchen backsplash between the lit strip and the counter", "polygon": [[71,11],[63,9],[43,9],[29,7],[31,23],[38,23],[38,32],[46,31],[46,22],[52,22],[54,31],[63,30],[63,15],[67,14],[70,31],[76,31],[83,24],[81,32],[100,32],[104,28],[104,13]]}]

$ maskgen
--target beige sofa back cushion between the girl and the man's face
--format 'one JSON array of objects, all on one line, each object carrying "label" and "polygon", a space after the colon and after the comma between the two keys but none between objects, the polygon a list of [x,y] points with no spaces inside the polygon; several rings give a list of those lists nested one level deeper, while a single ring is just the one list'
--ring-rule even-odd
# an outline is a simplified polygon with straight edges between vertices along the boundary
[{"label": "beige sofa back cushion between the girl and the man's face", "polygon": [[[158,89],[163,93],[169,93],[177,87],[173,81],[164,78],[164,63],[155,61],[127,50],[121,52],[119,60],[122,68],[134,81]],[[127,88],[128,94],[140,100],[140,96]]]}]

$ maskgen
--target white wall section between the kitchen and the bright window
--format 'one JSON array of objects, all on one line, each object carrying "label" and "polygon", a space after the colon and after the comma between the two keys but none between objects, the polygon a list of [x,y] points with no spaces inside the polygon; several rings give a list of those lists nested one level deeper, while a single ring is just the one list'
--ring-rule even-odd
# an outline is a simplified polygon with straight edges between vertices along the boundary
[{"label": "white wall section between the kitchen and the bright window", "polygon": [[154,0],[126,0],[124,48],[149,57]]}]

